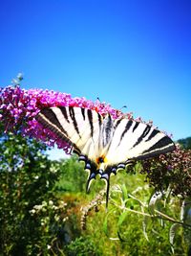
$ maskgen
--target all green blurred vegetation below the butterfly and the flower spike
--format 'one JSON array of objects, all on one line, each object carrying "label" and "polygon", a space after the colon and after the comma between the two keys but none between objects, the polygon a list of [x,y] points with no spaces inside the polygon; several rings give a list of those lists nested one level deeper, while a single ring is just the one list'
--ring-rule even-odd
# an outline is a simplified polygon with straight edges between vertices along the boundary
[{"label": "all green blurred vegetation below the butterfly and the flower spike", "polygon": [[[191,138],[179,142],[191,148]],[[0,255],[189,255],[190,230],[151,215],[180,220],[180,198],[149,209],[154,189],[138,165],[112,176],[106,211],[104,182],[87,195],[76,157],[51,161],[43,144],[1,128],[0,162]]]}]

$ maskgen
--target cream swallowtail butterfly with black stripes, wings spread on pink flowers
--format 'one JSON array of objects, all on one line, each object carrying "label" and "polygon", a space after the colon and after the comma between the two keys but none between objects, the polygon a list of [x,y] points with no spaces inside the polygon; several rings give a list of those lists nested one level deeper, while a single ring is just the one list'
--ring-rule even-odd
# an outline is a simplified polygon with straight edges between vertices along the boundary
[{"label": "cream swallowtail butterfly with black stripes, wings spread on pink flowers", "polygon": [[68,142],[89,171],[86,190],[96,175],[106,182],[108,205],[110,176],[132,160],[142,160],[175,150],[174,142],[159,129],[133,119],[76,106],[43,108],[36,120]]}]

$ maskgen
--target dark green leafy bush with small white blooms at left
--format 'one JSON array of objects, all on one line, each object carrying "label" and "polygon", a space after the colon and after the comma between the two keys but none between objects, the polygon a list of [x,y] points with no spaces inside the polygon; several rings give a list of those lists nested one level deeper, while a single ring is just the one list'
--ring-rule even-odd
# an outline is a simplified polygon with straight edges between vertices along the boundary
[{"label": "dark green leafy bush with small white blooms at left", "polygon": [[59,172],[45,150],[20,134],[2,134],[0,255],[51,255],[60,246],[65,205],[53,196]]}]

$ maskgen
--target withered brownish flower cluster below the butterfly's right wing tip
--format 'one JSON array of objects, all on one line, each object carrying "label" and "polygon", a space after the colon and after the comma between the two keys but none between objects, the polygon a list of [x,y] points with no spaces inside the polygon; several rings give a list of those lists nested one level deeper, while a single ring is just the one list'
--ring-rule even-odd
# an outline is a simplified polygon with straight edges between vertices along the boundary
[{"label": "withered brownish flower cluster below the butterfly's right wing tip", "polygon": [[166,190],[170,185],[174,196],[191,197],[191,150],[181,150],[159,155],[142,161],[142,174],[156,191]]}]

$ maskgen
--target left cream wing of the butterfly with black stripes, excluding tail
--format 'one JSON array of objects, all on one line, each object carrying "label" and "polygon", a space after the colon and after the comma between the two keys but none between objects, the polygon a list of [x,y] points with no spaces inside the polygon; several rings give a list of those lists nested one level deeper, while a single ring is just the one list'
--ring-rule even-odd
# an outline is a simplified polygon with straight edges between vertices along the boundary
[{"label": "left cream wing of the butterfly with black stripes, excluding tail", "polygon": [[53,106],[42,109],[36,120],[69,142],[78,154],[96,161],[103,120],[96,111],[81,107]]}]

